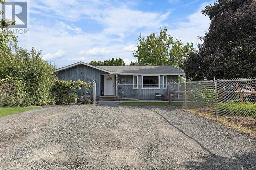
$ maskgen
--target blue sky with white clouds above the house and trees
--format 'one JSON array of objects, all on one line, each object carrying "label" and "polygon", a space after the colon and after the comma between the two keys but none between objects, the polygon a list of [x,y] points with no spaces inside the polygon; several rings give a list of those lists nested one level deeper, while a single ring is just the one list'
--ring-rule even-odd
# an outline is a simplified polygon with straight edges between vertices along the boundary
[{"label": "blue sky with white clouds above the house and trees", "polygon": [[136,61],[132,51],[138,37],[168,34],[196,47],[198,36],[209,28],[209,18],[201,14],[212,1],[106,1],[31,0],[29,32],[19,35],[21,47],[42,50],[43,58],[57,67],[75,62],[122,58]]}]

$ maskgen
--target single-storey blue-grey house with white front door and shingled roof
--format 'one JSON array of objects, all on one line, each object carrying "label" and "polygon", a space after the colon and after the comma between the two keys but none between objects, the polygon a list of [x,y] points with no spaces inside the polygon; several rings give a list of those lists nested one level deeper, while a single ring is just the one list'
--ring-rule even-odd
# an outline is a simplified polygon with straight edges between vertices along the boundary
[{"label": "single-storey blue-grey house with white front door and shingled roof", "polygon": [[185,75],[173,66],[93,66],[84,62],[54,72],[59,80],[95,80],[97,99],[154,99],[156,93],[167,94],[168,84],[177,83],[178,76]]}]

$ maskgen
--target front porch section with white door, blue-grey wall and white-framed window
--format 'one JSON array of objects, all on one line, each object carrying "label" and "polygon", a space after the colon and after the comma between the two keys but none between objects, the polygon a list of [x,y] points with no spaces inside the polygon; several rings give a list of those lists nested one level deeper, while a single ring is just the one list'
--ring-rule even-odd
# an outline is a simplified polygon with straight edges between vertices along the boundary
[{"label": "front porch section with white door, blue-grey wall and white-framed window", "polygon": [[[101,75],[99,100],[161,100],[168,101],[168,91],[178,91],[170,86],[178,76],[170,75]],[[179,98],[179,94],[173,94]]]}]

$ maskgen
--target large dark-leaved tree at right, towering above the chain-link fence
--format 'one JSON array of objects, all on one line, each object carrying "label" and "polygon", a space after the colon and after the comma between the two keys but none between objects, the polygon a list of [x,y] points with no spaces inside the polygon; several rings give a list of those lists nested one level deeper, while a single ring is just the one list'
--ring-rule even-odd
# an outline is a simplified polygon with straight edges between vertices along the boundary
[{"label": "large dark-leaved tree at right, towering above the chain-link fence", "polygon": [[[211,23],[199,52],[191,54],[185,72],[191,79],[241,78],[256,75],[256,1],[219,0],[202,11]],[[196,58],[198,67],[193,67]]]}]

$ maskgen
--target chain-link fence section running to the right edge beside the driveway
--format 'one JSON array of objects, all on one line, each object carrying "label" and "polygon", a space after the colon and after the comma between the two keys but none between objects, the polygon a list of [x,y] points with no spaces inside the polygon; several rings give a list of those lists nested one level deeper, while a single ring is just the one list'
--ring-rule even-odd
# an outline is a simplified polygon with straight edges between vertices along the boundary
[{"label": "chain-link fence section running to the right edge beside the driveway", "polygon": [[178,91],[169,91],[170,102],[183,100],[184,109],[256,130],[255,78],[177,83],[170,89],[177,86]]}]

